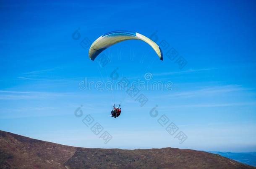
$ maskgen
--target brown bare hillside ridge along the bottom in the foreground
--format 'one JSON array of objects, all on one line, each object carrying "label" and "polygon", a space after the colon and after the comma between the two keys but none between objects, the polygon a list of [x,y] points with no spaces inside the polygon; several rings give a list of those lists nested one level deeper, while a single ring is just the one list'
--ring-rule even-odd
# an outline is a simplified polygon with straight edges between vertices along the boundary
[{"label": "brown bare hillside ridge along the bottom in the foreground", "polygon": [[89,149],[0,131],[1,169],[256,169],[218,154],[163,149]]}]

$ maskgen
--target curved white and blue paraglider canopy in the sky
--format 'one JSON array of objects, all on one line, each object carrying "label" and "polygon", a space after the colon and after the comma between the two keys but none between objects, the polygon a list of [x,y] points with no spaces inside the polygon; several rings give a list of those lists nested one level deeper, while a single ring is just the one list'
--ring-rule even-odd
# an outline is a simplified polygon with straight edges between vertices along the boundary
[{"label": "curved white and blue paraglider canopy in the sky", "polygon": [[143,40],[144,42],[148,43],[154,51],[157,53],[160,60],[163,60],[162,50],[159,46],[151,39],[147,38],[144,35],[141,35],[137,32],[125,31],[125,30],[116,30],[109,33],[105,33],[97,38],[94,43],[92,43],[89,49],[89,58],[94,61],[94,59],[101,53],[103,50],[107,49],[108,47],[119,43],[124,40]]}]

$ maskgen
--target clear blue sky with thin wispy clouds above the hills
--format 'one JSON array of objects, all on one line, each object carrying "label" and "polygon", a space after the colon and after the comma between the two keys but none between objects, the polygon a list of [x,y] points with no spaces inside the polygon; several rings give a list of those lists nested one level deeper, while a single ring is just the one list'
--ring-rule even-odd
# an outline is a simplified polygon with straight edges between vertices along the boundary
[{"label": "clear blue sky with thin wispy clouds above the hills", "polygon": [[[253,0],[1,1],[0,130],[81,147],[256,151],[255,6]],[[129,40],[105,50],[111,63],[101,68],[80,42],[112,30],[151,37],[164,61],[146,43]],[[167,57],[170,48],[188,62],[182,69]],[[115,83],[110,73],[117,67],[120,79],[171,81],[172,90],[140,91],[148,98],[141,107],[125,91],[79,89],[85,78]],[[122,103],[118,119],[109,116],[113,102]],[[111,134],[107,144],[83,123],[88,114]],[[178,126],[175,134],[158,123],[162,115]],[[182,144],[179,131],[187,136]]]}]

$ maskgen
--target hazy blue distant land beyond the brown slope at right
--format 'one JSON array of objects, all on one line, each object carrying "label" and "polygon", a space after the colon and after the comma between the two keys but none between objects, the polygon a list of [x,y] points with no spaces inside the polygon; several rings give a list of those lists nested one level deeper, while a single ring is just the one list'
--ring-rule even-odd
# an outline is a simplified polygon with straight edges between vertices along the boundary
[{"label": "hazy blue distant land beyond the brown slope at right", "polygon": [[232,153],[232,152],[219,152],[219,151],[208,151],[210,153],[219,154],[227,158],[239,161],[244,164],[248,164],[256,167],[256,152],[248,153]]}]

